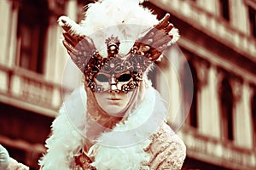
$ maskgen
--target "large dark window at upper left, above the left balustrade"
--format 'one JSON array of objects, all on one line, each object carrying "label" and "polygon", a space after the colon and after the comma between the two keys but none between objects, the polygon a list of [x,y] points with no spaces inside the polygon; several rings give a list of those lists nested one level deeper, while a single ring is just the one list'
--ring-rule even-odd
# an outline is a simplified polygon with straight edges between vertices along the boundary
[{"label": "large dark window at upper left, above the left balustrade", "polygon": [[23,1],[18,20],[18,56],[16,64],[38,73],[44,71],[44,48],[48,27],[47,2]]}]

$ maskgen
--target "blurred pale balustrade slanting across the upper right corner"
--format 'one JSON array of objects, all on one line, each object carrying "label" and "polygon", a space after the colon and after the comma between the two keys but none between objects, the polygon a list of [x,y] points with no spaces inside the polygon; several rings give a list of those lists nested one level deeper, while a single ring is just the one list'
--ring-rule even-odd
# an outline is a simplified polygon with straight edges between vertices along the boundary
[{"label": "blurred pale balustrade slanting across the upper right corner", "polygon": [[156,6],[175,14],[191,26],[204,31],[211,37],[224,42],[235,51],[249,56],[256,61],[256,41],[243,32],[230,26],[225,20],[221,20],[207,10],[198,7],[194,3],[181,0],[151,0]]}]

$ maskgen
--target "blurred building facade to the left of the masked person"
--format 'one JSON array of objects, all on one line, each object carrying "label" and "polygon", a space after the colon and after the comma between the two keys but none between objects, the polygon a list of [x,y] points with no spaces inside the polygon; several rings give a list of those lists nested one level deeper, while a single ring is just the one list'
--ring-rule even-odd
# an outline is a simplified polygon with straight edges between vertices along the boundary
[{"label": "blurred building facade to the left of the masked person", "polygon": [[32,169],[61,106],[67,54],[57,19],[73,2],[0,2],[0,144]]}]

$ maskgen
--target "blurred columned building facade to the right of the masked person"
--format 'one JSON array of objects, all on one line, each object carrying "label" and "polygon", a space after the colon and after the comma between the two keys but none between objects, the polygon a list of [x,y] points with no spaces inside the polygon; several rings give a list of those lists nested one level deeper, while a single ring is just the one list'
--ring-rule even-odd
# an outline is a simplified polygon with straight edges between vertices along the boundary
[{"label": "blurred columned building facade to the right of the masked person", "polygon": [[255,169],[256,1],[152,0],[148,6],[171,14],[193,76],[193,102],[178,131],[187,145],[184,168]]}]

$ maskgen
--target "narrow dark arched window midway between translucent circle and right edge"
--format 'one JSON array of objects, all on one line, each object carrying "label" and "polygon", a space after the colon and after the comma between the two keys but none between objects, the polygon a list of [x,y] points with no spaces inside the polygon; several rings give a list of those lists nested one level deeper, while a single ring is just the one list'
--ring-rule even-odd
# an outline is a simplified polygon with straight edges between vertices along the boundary
[{"label": "narrow dark arched window midway between translucent circle and right edge", "polygon": [[223,127],[224,139],[234,139],[234,119],[233,119],[233,94],[227,77],[221,83],[220,103],[221,103],[221,119]]}]

